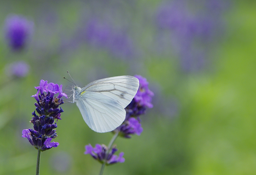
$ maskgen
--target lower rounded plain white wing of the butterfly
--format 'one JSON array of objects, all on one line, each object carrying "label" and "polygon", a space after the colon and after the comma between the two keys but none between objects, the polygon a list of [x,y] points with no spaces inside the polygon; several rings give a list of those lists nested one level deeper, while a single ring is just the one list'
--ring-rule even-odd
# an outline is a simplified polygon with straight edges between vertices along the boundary
[{"label": "lower rounded plain white wing of the butterfly", "polygon": [[84,92],[76,104],[86,124],[98,133],[112,131],[125,120],[125,109],[101,93]]}]

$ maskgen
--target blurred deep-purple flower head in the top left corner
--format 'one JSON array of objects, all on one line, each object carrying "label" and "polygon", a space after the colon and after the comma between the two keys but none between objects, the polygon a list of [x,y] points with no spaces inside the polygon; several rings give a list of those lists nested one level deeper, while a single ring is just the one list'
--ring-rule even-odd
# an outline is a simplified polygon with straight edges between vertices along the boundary
[{"label": "blurred deep-purple flower head in the top left corner", "polygon": [[25,47],[32,36],[34,23],[21,15],[9,15],[5,20],[4,30],[10,47],[17,51]]}]

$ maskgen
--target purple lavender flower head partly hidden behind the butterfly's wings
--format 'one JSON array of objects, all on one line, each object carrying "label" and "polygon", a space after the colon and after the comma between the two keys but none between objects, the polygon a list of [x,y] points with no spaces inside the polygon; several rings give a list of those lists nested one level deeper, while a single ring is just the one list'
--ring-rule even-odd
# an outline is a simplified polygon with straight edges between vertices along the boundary
[{"label": "purple lavender flower head partly hidden behind the butterfly's wings", "polygon": [[[140,124],[139,116],[145,114],[147,108],[152,108],[153,104],[151,104],[152,96],[154,93],[148,89],[147,79],[140,75],[135,75],[137,79],[139,79],[140,86],[139,89],[134,96],[134,99],[125,107],[126,110],[126,118],[123,124],[116,128],[119,131],[119,135],[125,138],[131,138],[131,135],[143,132],[143,128]],[[113,132],[116,132],[114,130]]]}]

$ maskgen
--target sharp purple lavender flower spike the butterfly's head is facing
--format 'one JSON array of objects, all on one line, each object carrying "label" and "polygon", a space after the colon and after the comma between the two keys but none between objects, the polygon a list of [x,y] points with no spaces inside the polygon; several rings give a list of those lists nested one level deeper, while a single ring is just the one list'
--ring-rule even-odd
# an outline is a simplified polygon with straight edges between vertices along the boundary
[{"label": "sharp purple lavender flower spike the butterfly's head is facing", "polygon": [[[57,137],[56,130],[57,123],[55,119],[61,120],[62,108],[58,108],[64,101],[62,96],[67,98],[67,95],[62,92],[62,85],[47,83],[41,80],[40,85],[35,87],[38,92],[33,95],[36,99],[35,111],[32,113],[30,122],[34,124],[34,130],[26,129],[22,131],[22,137],[27,138],[36,149],[41,151],[49,150],[52,147],[57,147],[58,142],[51,142],[52,138]],[[40,94],[39,94],[40,92]],[[58,96],[54,95],[59,93]]]}]

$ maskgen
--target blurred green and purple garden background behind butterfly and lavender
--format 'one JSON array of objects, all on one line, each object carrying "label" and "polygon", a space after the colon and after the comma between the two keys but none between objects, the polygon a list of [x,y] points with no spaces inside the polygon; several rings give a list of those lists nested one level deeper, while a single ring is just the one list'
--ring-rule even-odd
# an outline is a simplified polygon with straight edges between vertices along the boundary
[{"label": "blurred green and purple garden background behind butterfly and lavender", "polygon": [[[35,174],[37,150],[21,137],[33,127],[30,96],[41,79],[72,85],[67,71],[80,87],[139,74],[154,92],[143,133],[117,138],[125,162],[105,175],[256,174],[256,1],[0,4],[0,175]],[[42,152],[40,173],[98,174],[84,146],[112,133],[90,130],[76,104],[61,107],[60,145]]]}]

